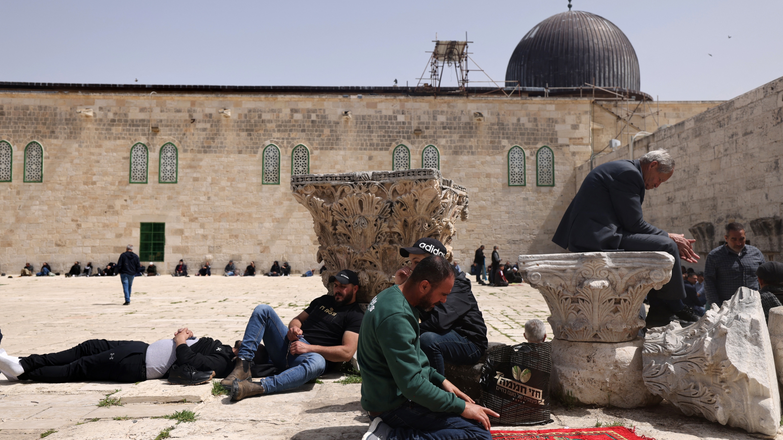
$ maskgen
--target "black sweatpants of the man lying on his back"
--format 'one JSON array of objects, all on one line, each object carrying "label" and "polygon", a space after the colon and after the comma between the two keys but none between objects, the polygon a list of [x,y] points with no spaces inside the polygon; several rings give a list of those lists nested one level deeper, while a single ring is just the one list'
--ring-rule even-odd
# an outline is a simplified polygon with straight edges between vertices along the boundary
[{"label": "black sweatpants of the man lying on his back", "polygon": [[146,342],[90,339],[72,349],[19,360],[23,381],[138,382],[146,380]]}]

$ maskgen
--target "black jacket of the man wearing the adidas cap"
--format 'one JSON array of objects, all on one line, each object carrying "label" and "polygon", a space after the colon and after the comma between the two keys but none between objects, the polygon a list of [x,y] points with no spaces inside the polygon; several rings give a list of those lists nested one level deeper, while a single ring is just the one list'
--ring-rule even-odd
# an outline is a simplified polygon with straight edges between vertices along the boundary
[{"label": "black jacket of the man wearing the adidas cap", "polygon": [[454,287],[446,303],[438,302],[429,312],[421,311],[420,317],[419,328],[422,332],[434,331],[442,334],[453,330],[482,350],[487,349],[487,327],[471,291],[471,281],[465,277],[464,272],[454,278]]}]

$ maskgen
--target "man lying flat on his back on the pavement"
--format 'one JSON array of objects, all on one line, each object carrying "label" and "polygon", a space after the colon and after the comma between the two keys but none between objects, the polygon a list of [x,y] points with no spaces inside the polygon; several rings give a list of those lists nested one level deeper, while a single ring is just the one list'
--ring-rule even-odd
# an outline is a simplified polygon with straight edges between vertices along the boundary
[{"label": "man lying flat on his back on the pavement", "polygon": [[10,381],[138,382],[168,378],[172,384],[197,385],[226,377],[236,352],[212,338],[196,338],[180,328],[174,338],[141,341],[90,339],[72,349],[45,355],[9,356],[0,349],[0,372]]}]

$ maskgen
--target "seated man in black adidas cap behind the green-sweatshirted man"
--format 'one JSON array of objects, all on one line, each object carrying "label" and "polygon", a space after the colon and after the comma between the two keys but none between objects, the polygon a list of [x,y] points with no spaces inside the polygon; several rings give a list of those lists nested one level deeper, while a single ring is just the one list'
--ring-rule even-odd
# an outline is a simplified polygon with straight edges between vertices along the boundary
[{"label": "seated man in black adidas cap behind the green-sweatshirted man", "polygon": [[[403,284],[422,259],[446,256],[446,246],[435,238],[420,238],[412,247],[400,248],[399,255],[410,259],[410,267],[397,271],[395,284]],[[471,365],[484,355],[487,327],[464,272],[454,272],[449,301],[436,303],[433,309],[421,312],[420,317],[421,351],[438,374],[445,374],[444,363]]]}]

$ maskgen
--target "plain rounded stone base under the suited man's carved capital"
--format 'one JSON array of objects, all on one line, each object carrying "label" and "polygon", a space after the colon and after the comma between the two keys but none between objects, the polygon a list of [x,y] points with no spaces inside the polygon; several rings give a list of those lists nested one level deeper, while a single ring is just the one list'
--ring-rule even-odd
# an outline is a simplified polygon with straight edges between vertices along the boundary
[{"label": "plain rounded stone base under the suited man's carved capital", "polygon": [[585,404],[655,405],[661,397],[648,392],[641,377],[643,344],[642,338],[613,343],[553,339],[553,392]]}]

